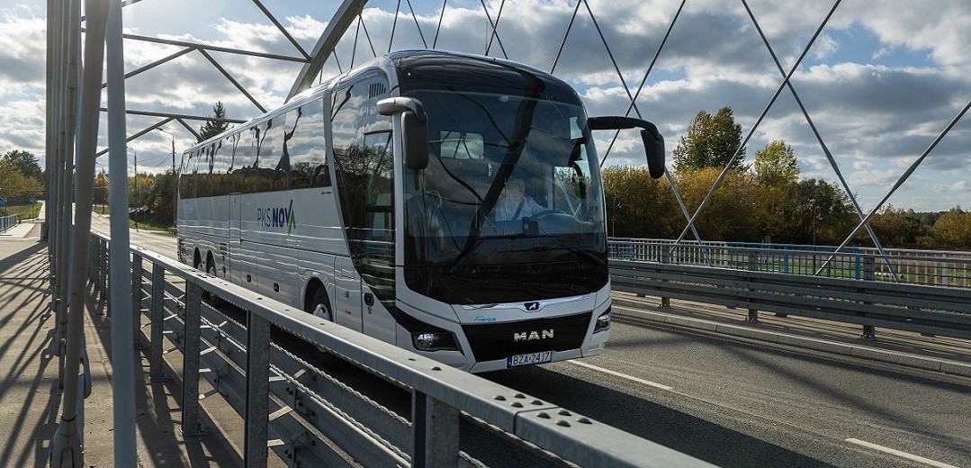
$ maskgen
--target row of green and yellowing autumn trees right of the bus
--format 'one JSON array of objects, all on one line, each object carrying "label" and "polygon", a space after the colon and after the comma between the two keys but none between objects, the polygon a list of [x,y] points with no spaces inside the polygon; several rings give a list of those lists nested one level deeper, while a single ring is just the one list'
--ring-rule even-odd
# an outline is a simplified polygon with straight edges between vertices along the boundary
[{"label": "row of green and yellowing autumn trees right of the bus", "polygon": [[[673,150],[672,180],[693,215],[722,169],[718,190],[695,219],[702,240],[839,245],[859,217],[842,186],[800,177],[796,154],[785,141],[754,152],[738,151],[742,127],[730,108],[715,115],[701,111]],[[671,164],[669,164],[671,167]],[[611,236],[677,239],[686,217],[666,178],[653,180],[645,167],[608,167],[603,171],[607,226]],[[971,213],[955,207],[943,213],[917,213],[887,205],[870,224],[887,248],[971,251]],[[691,231],[685,239],[694,240]],[[865,229],[852,241],[874,245]]]}]

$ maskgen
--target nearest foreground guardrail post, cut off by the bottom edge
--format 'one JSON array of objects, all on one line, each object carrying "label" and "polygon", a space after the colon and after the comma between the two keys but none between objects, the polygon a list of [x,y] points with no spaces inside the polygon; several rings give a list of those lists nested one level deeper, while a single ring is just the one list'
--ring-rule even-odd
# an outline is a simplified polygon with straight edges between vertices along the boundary
[{"label": "nearest foreground guardrail post, cut off by the bottom edge", "polygon": [[412,467],[458,466],[458,410],[415,390],[412,394]]}]

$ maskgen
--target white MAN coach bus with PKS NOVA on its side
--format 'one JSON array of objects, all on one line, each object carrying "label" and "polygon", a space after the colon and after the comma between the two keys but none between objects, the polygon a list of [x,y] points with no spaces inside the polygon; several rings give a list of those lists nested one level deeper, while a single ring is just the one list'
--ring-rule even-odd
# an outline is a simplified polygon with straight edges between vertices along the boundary
[{"label": "white MAN coach bus with PKS NOVA on its side", "polygon": [[568,84],[521,64],[389,53],[184,153],[179,256],[471,372],[597,354],[605,203]]}]

